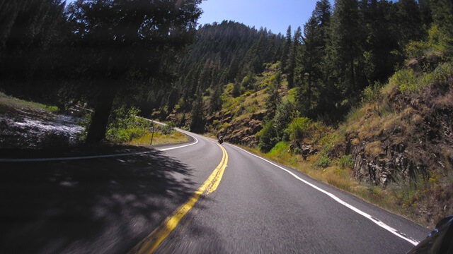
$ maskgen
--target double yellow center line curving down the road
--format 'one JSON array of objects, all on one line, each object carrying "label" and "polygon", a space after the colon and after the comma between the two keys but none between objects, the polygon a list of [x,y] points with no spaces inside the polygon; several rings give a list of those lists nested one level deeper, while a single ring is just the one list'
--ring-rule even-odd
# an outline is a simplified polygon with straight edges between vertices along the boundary
[{"label": "double yellow center line curving down the road", "polygon": [[222,147],[222,145],[219,145],[219,147],[222,149],[222,161],[220,161],[220,164],[212,171],[212,174],[205,183],[195,191],[188,202],[185,202],[185,204],[173,212],[170,217],[167,217],[159,227],[154,229],[147,238],[140,241],[129,253],[153,253],[154,250],[159,247],[159,244],[168,237],[171,231],[176,229],[180,220],[183,219],[190,209],[192,209],[198,198],[200,198],[200,195],[203,193],[210,194],[217,190],[220,180],[222,180],[226,164],[228,163],[228,154],[226,153],[225,148]]}]

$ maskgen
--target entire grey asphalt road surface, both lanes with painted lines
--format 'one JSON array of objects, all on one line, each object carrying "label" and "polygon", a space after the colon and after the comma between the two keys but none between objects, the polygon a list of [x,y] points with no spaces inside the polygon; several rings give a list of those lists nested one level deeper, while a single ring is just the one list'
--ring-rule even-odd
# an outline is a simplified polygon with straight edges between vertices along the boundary
[{"label": "entire grey asphalt road surface, both lanes with painted lines", "polygon": [[190,135],[120,157],[0,162],[0,253],[406,253],[429,233]]}]

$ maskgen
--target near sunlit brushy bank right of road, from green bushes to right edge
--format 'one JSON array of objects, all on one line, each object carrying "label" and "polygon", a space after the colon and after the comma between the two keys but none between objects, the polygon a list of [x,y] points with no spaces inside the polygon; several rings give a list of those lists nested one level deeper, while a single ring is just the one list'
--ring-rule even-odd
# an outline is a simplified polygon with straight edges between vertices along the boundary
[{"label": "near sunlit brushy bank right of road, from green bushes to right edge", "polygon": [[282,102],[248,150],[434,226],[453,212],[453,68],[449,38],[436,25],[428,33],[408,44],[411,58],[388,83],[365,88],[338,127]]}]

